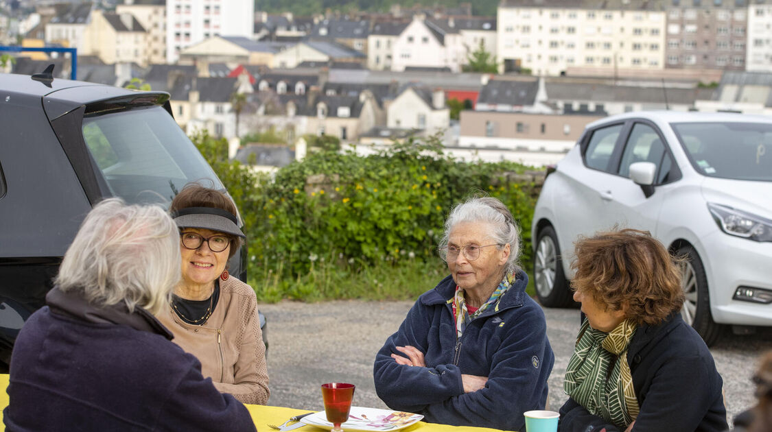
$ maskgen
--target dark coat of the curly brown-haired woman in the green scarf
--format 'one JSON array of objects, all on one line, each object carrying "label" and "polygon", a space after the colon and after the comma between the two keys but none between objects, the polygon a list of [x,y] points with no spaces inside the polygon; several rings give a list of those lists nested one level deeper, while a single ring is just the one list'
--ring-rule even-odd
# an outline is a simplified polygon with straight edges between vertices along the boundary
[{"label": "dark coat of the curly brown-haired woman in the green scarf", "polygon": [[[630,341],[627,359],[641,408],[634,432],[726,430],[723,381],[713,356],[679,313],[659,326],[640,326]],[[571,398],[560,408],[560,432],[604,429],[619,430]]]}]

